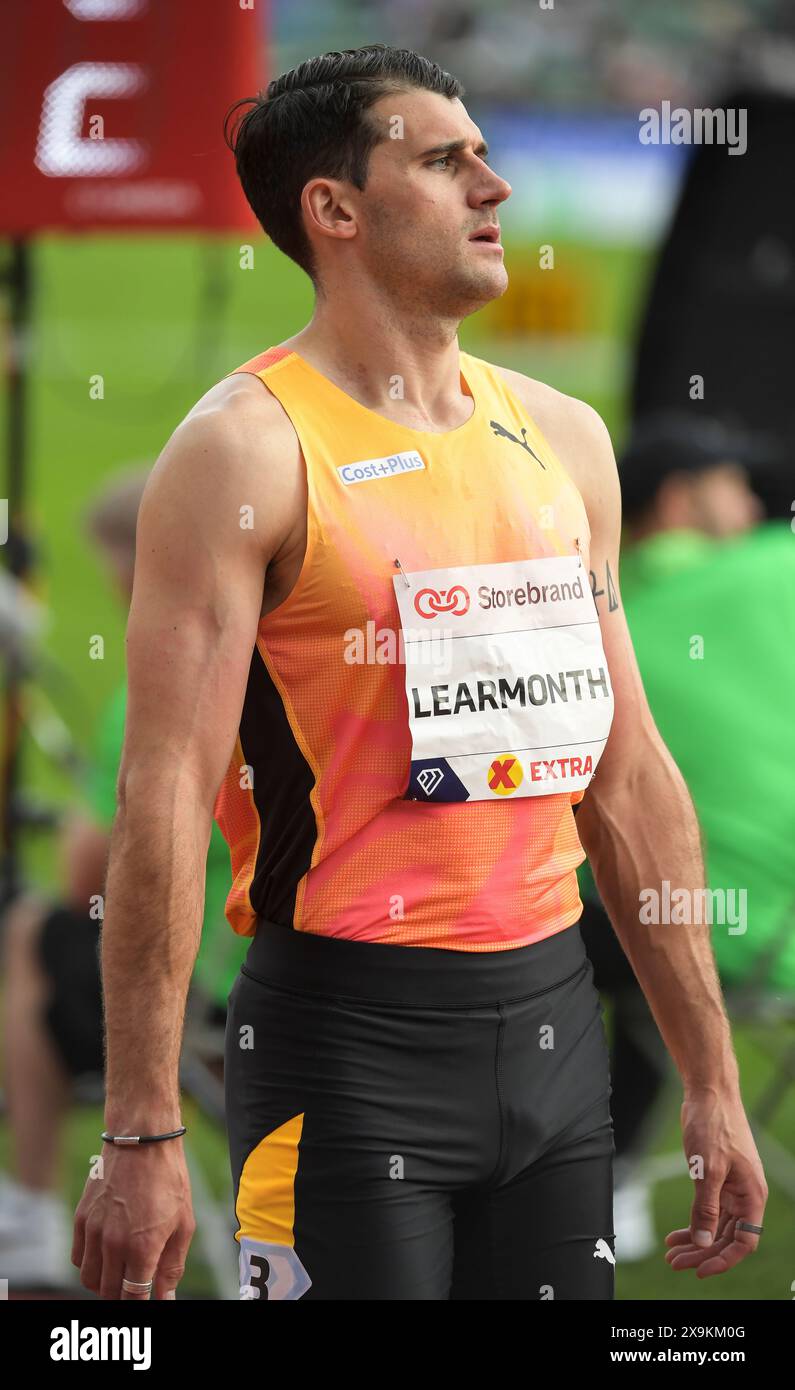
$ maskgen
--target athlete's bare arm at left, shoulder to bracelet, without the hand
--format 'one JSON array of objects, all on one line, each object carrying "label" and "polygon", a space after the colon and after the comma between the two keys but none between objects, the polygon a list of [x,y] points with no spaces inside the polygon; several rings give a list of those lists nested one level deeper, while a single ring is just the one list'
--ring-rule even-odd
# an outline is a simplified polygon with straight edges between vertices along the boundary
[{"label": "athlete's bare arm at left, shoulder to bracelet, without the hand", "polygon": [[[249,445],[245,418],[189,418],[142,500],[103,930],[111,1133],[179,1125],[179,1048],[213,806],[278,545],[279,512],[253,495]],[[240,527],[246,503],[253,530]]]}]

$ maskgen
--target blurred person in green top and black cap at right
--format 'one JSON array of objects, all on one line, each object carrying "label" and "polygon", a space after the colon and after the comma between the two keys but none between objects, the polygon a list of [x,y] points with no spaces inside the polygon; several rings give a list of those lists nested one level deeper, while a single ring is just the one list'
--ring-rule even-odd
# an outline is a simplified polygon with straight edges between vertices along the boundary
[{"label": "blurred person in green top and black cap at right", "polygon": [[[748,892],[746,931],[713,917],[721,983],[792,995],[795,539],[781,521],[759,524],[748,461],[748,442],[717,421],[639,423],[620,467],[621,595],[649,706],[699,816],[707,884]],[[616,1252],[641,1259],[655,1232],[638,1159],[670,1058],[587,863],[580,888],[612,1004]]]}]

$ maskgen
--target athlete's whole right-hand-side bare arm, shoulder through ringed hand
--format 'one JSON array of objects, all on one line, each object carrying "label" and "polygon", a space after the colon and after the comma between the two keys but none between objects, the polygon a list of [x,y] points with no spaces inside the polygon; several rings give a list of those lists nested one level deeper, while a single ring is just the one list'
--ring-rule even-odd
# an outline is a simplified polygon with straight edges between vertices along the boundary
[{"label": "athlete's whole right-hand-side bare arm, shoulder through ringed hand", "polygon": [[[591,527],[589,569],[616,699],[613,727],[577,830],[621,947],[684,1084],[682,1143],[695,1195],[666,1244],[674,1269],[724,1273],[756,1250],[767,1184],[739,1094],[710,926],[645,923],[641,891],[664,878],[703,888],[700,834],[685,781],[649,710],[618,584],[621,499],[610,436],[591,407],[506,374],[571,473]],[[516,378],[516,379],[514,379]],[[687,717],[687,712],[682,712]]]}]

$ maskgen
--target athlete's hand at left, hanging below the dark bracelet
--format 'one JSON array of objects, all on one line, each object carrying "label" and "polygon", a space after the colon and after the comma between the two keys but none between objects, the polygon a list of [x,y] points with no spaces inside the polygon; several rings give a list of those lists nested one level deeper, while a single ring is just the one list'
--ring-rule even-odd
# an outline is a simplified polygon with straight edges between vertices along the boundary
[{"label": "athlete's hand at left, hanging below the dark bracelet", "polygon": [[122,1290],[154,1280],[153,1298],[174,1298],[196,1230],[181,1138],[121,1148],[103,1144],[104,1176],[89,1177],[75,1212],[72,1265],[100,1298],[149,1294]]}]

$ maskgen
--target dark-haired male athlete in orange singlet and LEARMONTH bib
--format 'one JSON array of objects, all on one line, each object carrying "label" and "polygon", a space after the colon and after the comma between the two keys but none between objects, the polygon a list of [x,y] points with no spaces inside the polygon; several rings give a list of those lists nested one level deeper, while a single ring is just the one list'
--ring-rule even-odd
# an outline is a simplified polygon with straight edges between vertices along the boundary
[{"label": "dark-haired male athlete in orange singlet and LEARMONTH bib", "polygon": [[[757,1244],[709,934],[638,920],[644,885],[703,869],[620,607],[605,427],[459,353],[461,318],[506,288],[510,195],[460,93],[413,53],[325,54],[233,135],[317,303],[202,398],[142,505],[111,1138],[74,1245],[107,1298],[174,1295],[193,1230],[177,1068],[213,813],[227,916],[253,937],[225,1063],[243,1297],[613,1297],[605,1033],[567,930],[580,801],[706,1161],[677,1268]],[[613,595],[598,616],[588,569]]]}]

